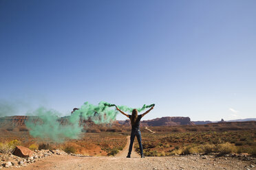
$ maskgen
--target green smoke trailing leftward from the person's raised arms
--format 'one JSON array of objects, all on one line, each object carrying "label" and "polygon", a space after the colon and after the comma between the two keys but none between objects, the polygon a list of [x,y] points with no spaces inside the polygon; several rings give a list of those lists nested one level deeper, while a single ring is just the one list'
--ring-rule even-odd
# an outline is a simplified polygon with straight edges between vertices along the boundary
[{"label": "green smoke trailing leftward from the person's raised arms", "polygon": [[[41,138],[46,141],[63,142],[67,138],[79,138],[83,130],[83,125],[80,125],[81,120],[90,120],[96,124],[112,123],[116,120],[118,111],[115,104],[109,104],[105,101],[101,101],[98,105],[89,104],[85,102],[81,108],[74,110],[74,112],[68,116],[59,118],[60,115],[56,110],[47,110],[45,108],[39,108],[32,112],[36,117],[31,117],[26,121],[26,126],[30,130],[30,135],[35,138]],[[138,112],[154,106],[144,105],[142,108],[137,108]],[[118,106],[125,112],[132,112],[134,108],[127,106]],[[65,121],[61,124],[61,121]]]}]

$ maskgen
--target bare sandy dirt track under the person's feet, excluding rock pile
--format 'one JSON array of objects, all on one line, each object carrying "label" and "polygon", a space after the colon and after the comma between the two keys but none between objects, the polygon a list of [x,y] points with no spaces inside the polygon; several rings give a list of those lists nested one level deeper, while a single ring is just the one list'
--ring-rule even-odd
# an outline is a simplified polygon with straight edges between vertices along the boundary
[{"label": "bare sandy dirt track under the person's feet, excluding rock pile", "polygon": [[190,155],[140,158],[140,155],[133,150],[131,153],[131,158],[126,158],[128,149],[129,136],[127,136],[127,145],[115,157],[78,157],[54,155],[38,160],[37,162],[26,167],[10,169],[256,169],[255,160],[244,161],[230,157],[215,158],[215,156]]}]

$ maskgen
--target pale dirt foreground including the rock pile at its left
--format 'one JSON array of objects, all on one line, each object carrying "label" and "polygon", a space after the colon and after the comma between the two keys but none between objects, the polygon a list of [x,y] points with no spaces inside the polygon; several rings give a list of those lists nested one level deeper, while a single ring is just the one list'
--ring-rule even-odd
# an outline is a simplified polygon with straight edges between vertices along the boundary
[{"label": "pale dirt foreground including the rock pile at its left", "polygon": [[62,150],[34,151],[29,158],[20,158],[12,154],[0,154],[0,169],[245,169],[256,170],[256,158],[246,154],[228,154],[225,156],[186,155],[167,157],[140,156],[133,150],[131,158],[127,156],[127,145],[116,157],[88,157],[79,154],[67,154]]}]

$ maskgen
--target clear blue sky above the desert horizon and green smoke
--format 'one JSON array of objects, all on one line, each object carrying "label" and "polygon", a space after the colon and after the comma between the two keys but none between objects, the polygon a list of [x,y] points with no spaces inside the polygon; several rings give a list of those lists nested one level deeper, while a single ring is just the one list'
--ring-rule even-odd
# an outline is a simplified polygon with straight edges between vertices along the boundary
[{"label": "clear blue sky above the desert horizon and green smoke", "polygon": [[255,9],[254,0],[0,0],[0,99],[63,114],[108,101],[155,103],[145,119],[256,117]]}]

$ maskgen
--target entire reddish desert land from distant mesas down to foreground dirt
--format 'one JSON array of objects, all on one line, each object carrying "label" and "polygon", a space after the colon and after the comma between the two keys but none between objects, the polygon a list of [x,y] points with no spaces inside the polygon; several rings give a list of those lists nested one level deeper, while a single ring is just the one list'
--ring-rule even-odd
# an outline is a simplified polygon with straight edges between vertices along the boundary
[{"label": "entire reddish desert land from distant mesas down to foreground dirt", "polygon": [[[97,125],[84,123],[78,139],[54,143],[33,138],[27,116],[1,117],[1,168],[10,169],[255,169],[256,121],[195,125],[189,117],[163,117],[141,122],[140,158],[135,141],[131,158],[129,121]],[[58,119],[65,126],[65,117]],[[34,151],[19,158],[6,151],[22,145]],[[11,162],[10,166],[7,162]]]}]

